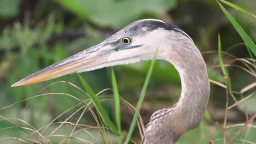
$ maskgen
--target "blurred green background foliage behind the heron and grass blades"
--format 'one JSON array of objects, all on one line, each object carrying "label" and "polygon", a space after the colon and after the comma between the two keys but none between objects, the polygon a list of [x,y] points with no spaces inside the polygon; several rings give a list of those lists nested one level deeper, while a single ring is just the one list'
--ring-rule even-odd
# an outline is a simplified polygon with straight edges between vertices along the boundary
[{"label": "blurred green background foliage behind the heron and grass blades", "polygon": [[[230,2],[256,14],[255,0]],[[255,42],[255,17],[224,6]],[[76,74],[25,87],[10,87],[13,83],[100,43],[133,21],[148,18],[170,22],[188,33],[207,63],[210,79],[225,85],[218,59],[218,33],[220,34],[223,59],[229,71],[235,98],[240,100],[250,94],[252,96],[225,114],[226,90],[220,84],[211,83],[210,103],[207,109],[209,115],[203,119],[199,127],[182,136],[178,143],[223,143],[225,116],[227,125],[240,124],[246,123],[256,112],[255,63],[253,65],[255,56],[249,55],[243,40],[223,14],[218,3],[204,0],[1,0],[0,141],[17,143],[19,141],[4,140],[7,137],[28,135],[15,127],[15,124],[28,127],[24,123],[27,122],[38,129],[54,118],[54,122],[65,121],[73,111],[78,110],[74,108],[73,111],[58,117],[62,112],[78,104],[78,101],[67,95],[51,93],[65,93],[81,98],[74,87],[59,81],[68,81],[83,88]],[[119,93],[132,105],[137,104],[149,65],[150,62],[140,62],[114,67]],[[109,68],[82,73],[82,76],[96,93],[112,88]],[[244,91],[241,93],[241,90]],[[177,71],[171,64],[157,61],[140,111],[144,124],[147,124],[154,111],[175,104],[180,93],[181,82]],[[45,95],[34,98],[38,94]],[[108,90],[100,95],[113,95],[113,92]],[[28,100],[22,101],[24,99]],[[14,103],[16,104],[12,105]],[[114,121],[113,101],[105,101],[102,104]],[[234,100],[230,97],[229,106],[232,104]],[[126,134],[133,115],[127,107],[123,107],[121,124],[123,133]],[[81,113],[82,111],[79,111],[68,121],[76,122]],[[90,112],[84,114],[79,123],[95,124]],[[256,123],[250,124],[252,127],[244,129],[234,143],[256,142]],[[232,137],[241,127],[242,125],[238,125],[226,130],[227,137]],[[68,131],[65,128],[61,130]],[[98,135],[96,131],[91,133],[96,137]],[[137,143],[141,141],[137,130],[132,138]],[[98,139],[101,139],[100,135]]]}]

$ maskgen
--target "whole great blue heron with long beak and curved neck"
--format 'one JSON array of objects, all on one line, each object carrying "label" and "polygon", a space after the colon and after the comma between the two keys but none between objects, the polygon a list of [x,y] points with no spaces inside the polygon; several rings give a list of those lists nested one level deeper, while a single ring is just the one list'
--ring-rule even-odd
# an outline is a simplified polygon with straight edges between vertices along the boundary
[{"label": "whole great blue heron with long beak and curved neck", "polygon": [[55,63],[13,86],[25,86],[71,73],[80,73],[119,64],[163,59],[174,65],[182,82],[177,104],[153,113],[142,143],[176,143],[195,128],[205,113],[210,85],[200,51],[193,40],[176,26],[146,19],[131,23],[102,43]]}]

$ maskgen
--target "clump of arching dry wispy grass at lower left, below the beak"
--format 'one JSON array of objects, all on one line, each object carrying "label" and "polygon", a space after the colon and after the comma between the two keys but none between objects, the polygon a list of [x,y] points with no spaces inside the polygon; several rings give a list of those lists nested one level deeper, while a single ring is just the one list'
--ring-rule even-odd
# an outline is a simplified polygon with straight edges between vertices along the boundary
[{"label": "clump of arching dry wispy grass at lower left, below the beak", "polygon": [[[56,82],[56,83],[59,83],[59,82]],[[83,89],[80,89],[79,87],[73,85],[72,83],[67,83],[67,84],[72,85],[75,89],[79,89],[79,91],[82,91],[84,94],[86,94],[83,91]],[[83,115],[84,112],[88,111],[88,109],[91,112],[91,114],[94,117],[96,117],[95,113],[93,111],[91,111],[91,107],[94,106],[94,105],[90,104],[91,99],[80,101],[79,99],[77,99],[73,95],[69,95],[69,94],[65,94],[65,93],[46,93],[46,94],[39,94],[39,95],[36,95],[34,97],[31,97],[31,98],[27,98],[27,99],[22,100],[22,101],[33,100],[33,99],[39,98],[39,97],[54,96],[54,95],[62,95],[62,96],[66,95],[68,97],[71,97],[72,99],[76,99],[77,101],[79,101],[79,104],[74,105],[70,109],[61,113],[59,116],[54,118],[53,121],[51,121],[50,123],[44,125],[42,128],[39,128],[39,129],[34,128],[31,124],[27,123],[26,121],[24,121],[22,119],[15,118],[13,120],[20,121],[20,122],[28,125],[28,127],[25,126],[24,124],[22,126],[20,126],[21,125],[20,123],[14,123],[11,120],[11,118],[5,118],[3,116],[0,116],[0,121],[5,120],[5,121],[8,121],[10,123],[13,123],[15,125],[15,127],[20,128],[21,130],[24,130],[25,133],[27,134],[27,137],[25,137],[25,138],[18,138],[17,137],[15,139],[14,137],[3,137],[4,139],[1,138],[0,141],[4,142],[4,141],[9,141],[9,140],[17,140],[17,141],[23,141],[24,143],[30,143],[30,142],[34,142],[34,143],[52,143],[52,142],[55,142],[55,141],[62,140],[62,142],[66,141],[68,143],[71,143],[71,141],[69,141],[69,140],[78,140],[82,143],[94,143],[94,142],[90,142],[89,140],[86,140],[86,137],[84,137],[83,139],[78,137],[77,134],[84,131],[83,132],[84,134],[88,134],[91,138],[93,138],[95,140],[95,142],[97,142],[98,137],[96,138],[93,134],[91,134],[91,130],[89,130],[89,129],[96,129],[96,130],[98,130],[99,133],[102,133],[100,128],[106,130],[106,134],[103,134],[103,135],[106,136],[108,141],[109,141],[110,135],[108,133],[108,128],[106,128],[106,127],[100,127],[99,128],[99,127],[94,127],[94,126],[90,126],[90,125],[79,124],[78,122],[77,123],[68,122],[72,117],[75,116],[76,113],[78,113],[81,110],[84,110],[84,111],[80,114],[80,117]],[[22,103],[22,101],[19,101],[18,103]],[[16,103],[16,104],[18,104],[18,103]],[[101,101],[100,101],[100,103],[101,103]],[[86,105],[86,104],[88,104],[88,105]],[[84,106],[81,106],[81,105],[84,105]],[[8,109],[8,108],[10,109],[11,106],[14,106],[14,104],[3,107],[1,110]],[[66,120],[64,122],[55,122],[56,119],[59,119],[61,116],[66,115],[71,110],[75,110],[75,112],[73,112],[71,115],[66,117],[65,118]],[[79,121],[80,117],[78,118],[78,121]],[[58,125],[58,126],[56,127],[56,125]],[[56,127],[56,128],[53,128],[53,127]],[[11,129],[11,128],[12,127],[9,127],[9,128],[7,127],[7,128],[0,129],[0,130]],[[63,128],[65,128],[65,130]],[[74,128],[76,128],[76,130],[74,130]],[[60,134],[60,129],[62,131],[62,134]],[[73,129],[73,131],[71,131],[71,129]],[[58,137],[58,138],[56,139],[56,137]],[[106,141],[104,141],[104,143],[108,143],[108,141],[106,140]],[[97,143],[99,143],[99,141]]]}]

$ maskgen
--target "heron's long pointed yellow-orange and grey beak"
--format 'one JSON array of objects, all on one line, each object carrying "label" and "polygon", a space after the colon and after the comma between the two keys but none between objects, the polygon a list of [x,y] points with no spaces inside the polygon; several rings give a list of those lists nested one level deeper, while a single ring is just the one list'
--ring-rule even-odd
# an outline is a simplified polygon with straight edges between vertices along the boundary
[{"label": "heron's long pointed yellow-orange and grey beak", "polygon": [[56,77],[79,71],[92,70],[94,67],[99,67],[99,65],[108,61],[108,55],[111,51],[110,48],[111,45],[106,45],[104,42],[90,47],[89,49],[79,52],[47,68],[37,71],[30,76],[25,77],[24,79],[14,83],[14,85],[11,87],[31,85],[33,83],[51,80]]}]

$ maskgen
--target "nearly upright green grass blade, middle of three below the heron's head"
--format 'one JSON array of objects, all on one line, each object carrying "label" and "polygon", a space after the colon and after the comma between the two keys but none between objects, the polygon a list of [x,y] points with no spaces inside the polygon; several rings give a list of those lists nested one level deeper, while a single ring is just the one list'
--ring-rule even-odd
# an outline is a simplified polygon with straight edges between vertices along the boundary
[{"label": "nearly upright green grass blade, middle of three below the heron's head", "polygon": [[121,133],[121,112],[120,112],[120,99],[119,92],[117,87],[117,79],[115,79],[114,69],[111,69],[111,79],[112,79],[112,87],[114,92],[114,100],[115,100],[115,120],[117,121],[118,131]]}]

